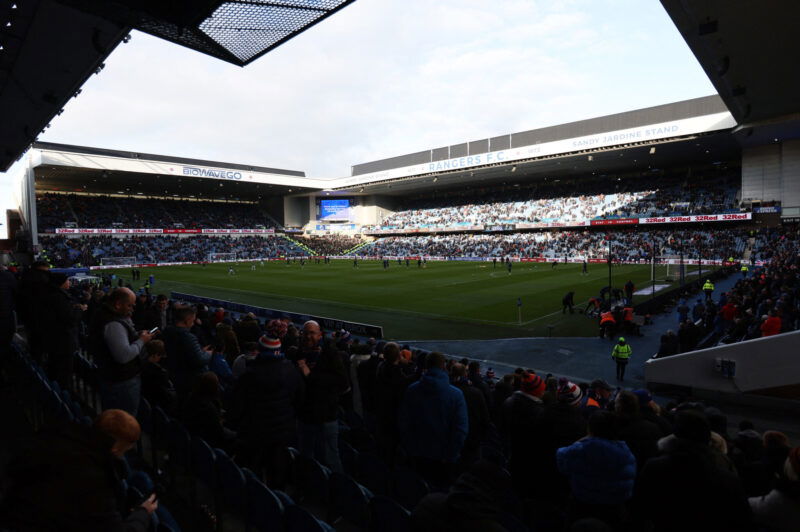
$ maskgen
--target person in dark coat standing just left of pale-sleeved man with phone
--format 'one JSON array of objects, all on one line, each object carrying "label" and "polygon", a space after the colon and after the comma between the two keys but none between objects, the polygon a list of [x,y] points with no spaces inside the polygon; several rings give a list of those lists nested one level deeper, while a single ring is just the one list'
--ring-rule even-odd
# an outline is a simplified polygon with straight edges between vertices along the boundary
[{"label": "person in dark coat standing just left of pale-sleeved man with phone", "polygon": [[78,349],[78,326],[86,308],[73,301],[69,294],[69,279],[63,273],[50,274],[50,290],[44,300],[47,376],[69,389],[72,365]]}]

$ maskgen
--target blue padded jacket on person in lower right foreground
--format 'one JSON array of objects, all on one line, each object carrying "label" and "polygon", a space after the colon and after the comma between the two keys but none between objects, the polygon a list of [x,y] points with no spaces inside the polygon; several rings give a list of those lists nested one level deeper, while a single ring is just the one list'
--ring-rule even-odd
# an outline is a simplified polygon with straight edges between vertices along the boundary
[{"label": "blue padded jacket on person in lower right foreground", "polygon": [[560,448],[556,461],[581,502],[621,504],[633,495],[636,458],[623,441],[590,437]]}]

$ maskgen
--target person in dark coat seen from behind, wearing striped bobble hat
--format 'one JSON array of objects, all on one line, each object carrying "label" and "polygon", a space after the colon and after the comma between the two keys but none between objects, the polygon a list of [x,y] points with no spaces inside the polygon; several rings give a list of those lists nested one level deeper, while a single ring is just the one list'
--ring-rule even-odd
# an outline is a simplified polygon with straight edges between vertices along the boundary
[{"label": "person in dark coat seen from behind, wearing striped bobble hat", "polygon": [[263,349],[233,389],[228,419],[237,429],[237,460],[264,473],[273,489],[281,488],[286,480],[281,454],[295,444],[297,411],[304,395],[302,374],[279,347]]}]

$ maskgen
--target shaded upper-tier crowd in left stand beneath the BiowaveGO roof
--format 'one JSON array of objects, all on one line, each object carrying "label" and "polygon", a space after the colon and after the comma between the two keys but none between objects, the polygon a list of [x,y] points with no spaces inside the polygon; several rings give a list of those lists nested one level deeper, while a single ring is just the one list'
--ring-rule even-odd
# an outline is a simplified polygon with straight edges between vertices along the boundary
[{"label": "shaded upper-tier crowd in left stand beneath the BiowaveGO roof", "polygon": [[36,197],[40,232],[74,223],[82,228],[245,229],[274,227],[258,203],[126,198],[80,194]]}]

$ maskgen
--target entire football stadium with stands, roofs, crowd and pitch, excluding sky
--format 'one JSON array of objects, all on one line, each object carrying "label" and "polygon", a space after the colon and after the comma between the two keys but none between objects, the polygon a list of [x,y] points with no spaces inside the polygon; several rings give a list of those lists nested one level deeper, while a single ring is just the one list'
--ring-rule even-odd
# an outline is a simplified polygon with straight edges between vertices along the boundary
[{"label": "entire football stadium with stands, roofs, crowd and pitch, excluding sky", "polygon": [[662,0],[716,94],[343,177],[38,138],[133,30],[353,1],[0,6],[0,530],[797,530],[800,7]]}]

